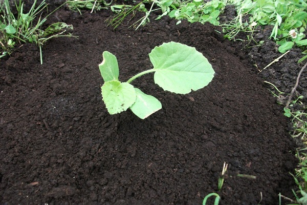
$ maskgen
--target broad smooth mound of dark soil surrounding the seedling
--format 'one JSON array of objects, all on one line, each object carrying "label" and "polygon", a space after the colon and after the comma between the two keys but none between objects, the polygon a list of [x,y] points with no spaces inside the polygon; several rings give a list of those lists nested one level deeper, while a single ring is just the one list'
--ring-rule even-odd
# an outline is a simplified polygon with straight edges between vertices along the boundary
[{"label": "broad smooth mound of dark soil surrounding the seedling", "polygon": [[[152,18],[137,31],[125,24],[113,30],[105,23],[111,14],[59,10],[54,20],[73,24],[78,39],[50,40],[43,65],[34,45],[0,61],[0,203],[202,204],[211,192],[220,204],[293,198],[296,146],[250,56],[219,27]],[[109,115],[102,52],[117,56],[124,81],[151,68],[148,53],[170,41],[202,52],[216,72],[212,82],[178,95],[148,74],[134,85],[163,108],[145,120],[130,111]]]}]

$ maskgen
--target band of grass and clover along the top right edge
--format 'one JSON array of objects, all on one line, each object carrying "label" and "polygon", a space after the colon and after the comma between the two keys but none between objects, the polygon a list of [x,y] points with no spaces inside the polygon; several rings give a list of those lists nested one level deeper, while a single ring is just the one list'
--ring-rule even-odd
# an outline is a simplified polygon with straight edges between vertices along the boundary
[{"label": "band of grass and clover along the top right edge", "polygon": [[[150,5],[147,10],[145,4]],[[307,54],[307,39],[304,31],[307,23],[307,3],[305,0],[144,0],[135,6],[118,5],[118,14],[109,19],[114,28],[118,27],[122,20],[130,13],[136,11],[145,12],[144,17],[137,20],[132,26],[138,29],[140,26],[149,22],[149,16],[152,11],[161,10],[162,16],[168,15],[178,20],[190,23],[210,22],[213,25],[220,25],[219,17],[227,5],[234,5],[237,15],[230,21],[221,26],[225,37],[230,40],[238,40],[239,32],[246,32],[248,41],[253,40],[254,32],[263,29],[265,26],[271,26],[272,38],[279,45],[279,52],[285,53],[294,46],[302,48],[302,52]],[[114,6],[113,6],[114,7]],[[255,42],[261,44],[261,42]],[[307,58],[307,55],[299,60],[299,63]]]}]

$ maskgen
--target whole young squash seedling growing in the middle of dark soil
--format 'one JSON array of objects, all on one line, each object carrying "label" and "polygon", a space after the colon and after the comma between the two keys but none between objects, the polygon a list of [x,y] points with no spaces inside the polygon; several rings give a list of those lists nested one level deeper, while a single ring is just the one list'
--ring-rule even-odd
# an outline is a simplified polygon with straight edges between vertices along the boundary
[{"label": "whole young squash seedling growing in the middle of dark soil", "polygon": [[165,91],[187,94],[207,86],[214,76],[214,70],[207,58],[195,48],[180,43],[163,43],[149,53],[153,69],[143,71],[126,82],[119,81],[119,68],[115,55],[104,51],[99,65],[104,84],[102,99],[109,114],[126,111],[128,108],[141,119],[160,110],[160,101],[143,93],[130,83],[136,78],[154,72],[155,83]]}]

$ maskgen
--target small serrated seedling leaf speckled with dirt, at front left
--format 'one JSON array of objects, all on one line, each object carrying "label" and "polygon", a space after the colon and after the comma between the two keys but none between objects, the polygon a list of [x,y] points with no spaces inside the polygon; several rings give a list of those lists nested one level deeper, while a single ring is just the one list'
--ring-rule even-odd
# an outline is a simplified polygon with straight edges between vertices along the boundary
[{"label": "small serrated seedling leaf speckled with dirt, at front left", "polygon": [[102,99],[107,111],[113,115],[127,110],[136,101],[136,91],[128,83],[107,81],[101,87]]}]

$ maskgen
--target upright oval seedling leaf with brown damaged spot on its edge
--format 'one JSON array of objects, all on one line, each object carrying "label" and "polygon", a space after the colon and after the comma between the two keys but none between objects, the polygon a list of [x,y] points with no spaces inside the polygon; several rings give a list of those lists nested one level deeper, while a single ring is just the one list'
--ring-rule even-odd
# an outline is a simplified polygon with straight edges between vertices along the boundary
[{"label": "upright oval seedling leaf with brown damaged spot on its edge", "polygon": [[102,63],[99,64],[101,76],[105,82],[117,80],[119,75],[118,63],[116,56],[108,51],[102,53]]}]

